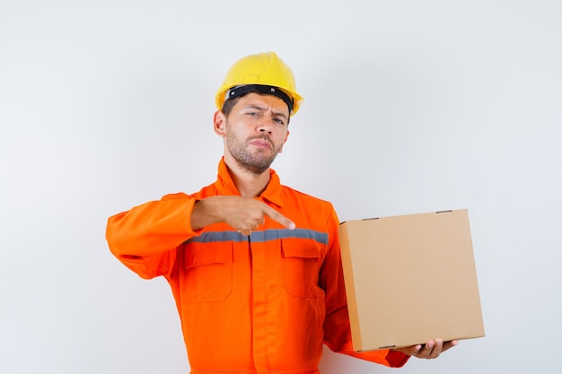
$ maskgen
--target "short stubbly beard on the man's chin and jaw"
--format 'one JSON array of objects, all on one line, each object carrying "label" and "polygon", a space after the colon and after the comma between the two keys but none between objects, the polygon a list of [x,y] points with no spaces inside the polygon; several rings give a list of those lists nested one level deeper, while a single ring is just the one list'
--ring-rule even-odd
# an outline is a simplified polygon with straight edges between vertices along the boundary
[{"label": "short stubbly beard on the man's chin and jaw", "polygon": [[[250,143],[254,140],[265,140],[271,145],[270,149],[255,149]],[[268,135],[259,135],[248,138],[246,141],[241,140],[233,133],[226,135],[226,144],[228,152],[231,153],[233,159],[243,170],[254,175],[262,174],[268,170],[271,163],[277,157],[281,147],[276,147]],[[254,148],[252,150],[252,148]]]}]

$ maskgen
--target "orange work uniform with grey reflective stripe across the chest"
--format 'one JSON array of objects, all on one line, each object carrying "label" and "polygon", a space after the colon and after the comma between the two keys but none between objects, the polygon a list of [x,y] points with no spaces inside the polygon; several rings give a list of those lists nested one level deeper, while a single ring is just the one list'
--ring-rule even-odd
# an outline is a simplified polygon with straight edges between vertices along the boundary
[{"label": "orange work uniform with grey reflective stripe across the chest", "polygon": [[112,253],[136,274],[171,285],[191,372],[319,373],[322,342],[335,352],[400,367],[408,355],[352,350],[331,204],[282,186],[275,171],[259,200],[291,219],[266,217],[250,236],[219,223],[194,231],[190,213],[208,196],[240,195],[224,161],[217,181],[110,217]]}]

